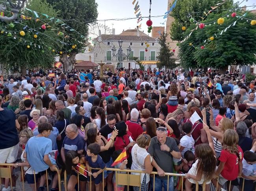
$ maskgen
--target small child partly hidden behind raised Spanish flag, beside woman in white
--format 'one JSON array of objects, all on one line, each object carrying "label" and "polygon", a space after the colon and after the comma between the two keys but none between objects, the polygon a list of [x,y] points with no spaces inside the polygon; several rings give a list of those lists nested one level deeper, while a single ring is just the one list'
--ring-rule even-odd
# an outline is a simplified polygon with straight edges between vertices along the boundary
[{"label": "small child partly hidden behind raised Spanish flag, beside woman in white", "polygon": [[[117,150],[115,151],[113,154],[112,154],[112,159],[113,161],[115,161],[117,159],[117,157],[122,153],[122,150]],[[114,166],[114,168],[116,169],[120,169],[120,170],[123,170],[123,169],[126,169],[126,164],[128,163],[128,160],[124,160],[123,162],[117,164],[116,166]],[[124,191],[124,186],[122,185],[117,185],[116,186],[116,182],[115,182],[115,176],[116,176],[116,173],[121,173],[121,174],[126,174],[125,172],[118,172],[116,171],[114,173],[114,176],[113,176],[113,187],[114,187],[114,190],[115,191]],[[117,189],[116,189],[117,188]]]}]

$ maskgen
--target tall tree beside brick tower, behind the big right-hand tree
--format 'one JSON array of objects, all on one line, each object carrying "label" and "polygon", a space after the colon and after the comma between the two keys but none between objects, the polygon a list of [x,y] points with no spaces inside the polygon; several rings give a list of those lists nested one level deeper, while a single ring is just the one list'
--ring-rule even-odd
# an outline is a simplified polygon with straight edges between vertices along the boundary
[{"label": "tall tree beside brick tower, behind the big right-hand tree", "polygon": [[[210,6],[215,6],[218,3],[220,3],[219,0],[178,0],[176,2],[176,6],[170,14],[174,18],[174,22],[170,28],[171,39],[176,41],[183,40],[184,32],[181,28],[183,26],[188,28],[191,25],[191,22],[189,22],[190,17],[188,13],[190,13],[195,20],[200,21],[206,16],[208,11],[211,10]],[[223,5],[220,5],[218,9],[229,9],[232,5],[233,1],[227,1]],[[219,11],[216,9],[213,12]],[[194,23],[192,22],[192,24]]]}]

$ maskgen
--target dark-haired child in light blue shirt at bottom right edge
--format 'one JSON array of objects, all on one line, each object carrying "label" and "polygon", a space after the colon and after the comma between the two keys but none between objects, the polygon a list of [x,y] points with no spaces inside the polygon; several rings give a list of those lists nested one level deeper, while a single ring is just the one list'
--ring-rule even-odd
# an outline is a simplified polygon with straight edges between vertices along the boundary
[{"label": "dark-haired child in light blue shirt at bottom right edge", "polygon": [[240,187],[242,190],[253,191],[255,190],[255,165],[256,164],[256,142],[254,142],[252,149],[250,151],[245,151],[243,153],[243,171],[242,176],[245,178],[245,182],[243,185],[243,178],[240,178]]}]

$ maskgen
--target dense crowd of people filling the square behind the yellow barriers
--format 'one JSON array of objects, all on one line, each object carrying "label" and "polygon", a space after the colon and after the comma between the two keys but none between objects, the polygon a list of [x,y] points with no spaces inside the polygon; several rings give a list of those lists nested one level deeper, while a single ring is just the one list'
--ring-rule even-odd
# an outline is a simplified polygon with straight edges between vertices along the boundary
[{"label": "dense crowd of people filling the square behind the yellow barriers", "polygon": [[[21,176],[33,191],[45,190],[47,169],[51,191],[58,190],[56,168],[67,172],[67,190],[75,191],[79,166],[88,171],[79,176],[81,191],[123,191],[106,168],[142,171],[143,191],[181,190],[181,178],[165,173],[185,174],[186,191],[196,182],[211,191],[252,191],[255,82],[239,71],[212,69],[119,68],[104,77],[89,69],[40,69],[0,78],[0,163],[13,164],[13,190],[15,168],[24,167]],[[126,159],[112,167],[124,149]],[[3,179],[2,191],[11,190],[10,181]]]}]

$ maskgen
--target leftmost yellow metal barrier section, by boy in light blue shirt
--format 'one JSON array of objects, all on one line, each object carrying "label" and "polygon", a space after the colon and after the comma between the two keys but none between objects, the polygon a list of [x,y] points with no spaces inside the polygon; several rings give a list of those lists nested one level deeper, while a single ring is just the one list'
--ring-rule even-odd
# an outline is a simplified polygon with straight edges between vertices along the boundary
[{"label": "leftmost yellow metal barrier section, by boy in light blue shirt", "polygon": [[[13,191],[13,182],[12,182],[12,173],[11,173],[11,167],[13,166],[13,164],[7,164],[7,163],[4,163],[4,164],[0,164],[0,185],[2,185],[2,182],[1,182],[1,178],[10,178],[10,184],[11,184],[11,191]],[[4,166],[4,167],[3,167]],[[25,188],[24,188],[24,176],[23,176],[23,167],[20,167],[20,175],[22,177],[22,191],[25,191]],[[55,168],[57,174],[58,174],[58,186],[59,186],[59,191],[61,191],[61,174],[60,174],[60,171],[59,169],[56,167]],[[35,177],[35,171],[34,171],[34,181],[36,180],[36,177]],[[47,187],[47,191],[49,191],[49,185],[48,185],[48,172],[46,170],[46,187]],[[37,182],[35,181],[35,190],[37,190]]]}]

